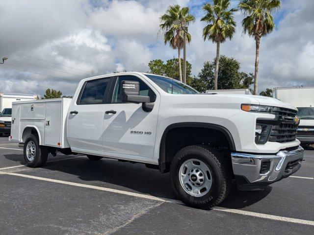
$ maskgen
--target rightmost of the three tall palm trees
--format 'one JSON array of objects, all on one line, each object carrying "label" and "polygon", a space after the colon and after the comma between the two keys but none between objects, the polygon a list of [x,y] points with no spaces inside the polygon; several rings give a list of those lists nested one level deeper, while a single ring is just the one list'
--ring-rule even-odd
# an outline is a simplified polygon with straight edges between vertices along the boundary
[{"label": "rightmost of the three tall palm trees", "polygon": [[242,13],[247,15],[242,21],[243,32],[254,37],[256,43],[254,94],[258,94],[261,38],[274,30],[275,23],[271,14],[280,6],[280,0],[241,0],[239,3]]}]

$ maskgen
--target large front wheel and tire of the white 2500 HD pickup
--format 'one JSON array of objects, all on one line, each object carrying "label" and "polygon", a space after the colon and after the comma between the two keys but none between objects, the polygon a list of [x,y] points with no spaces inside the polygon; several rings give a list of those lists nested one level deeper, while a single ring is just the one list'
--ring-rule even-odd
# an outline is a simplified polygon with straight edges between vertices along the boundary
[{"label": "large front wheel and tire of the white 2500 HD pickup", "polygon": [[221,203],[231,187],[231,172],[212,148],[191,145],[181,149],[170,167],[172,186],[188,206],[209,209]]}]

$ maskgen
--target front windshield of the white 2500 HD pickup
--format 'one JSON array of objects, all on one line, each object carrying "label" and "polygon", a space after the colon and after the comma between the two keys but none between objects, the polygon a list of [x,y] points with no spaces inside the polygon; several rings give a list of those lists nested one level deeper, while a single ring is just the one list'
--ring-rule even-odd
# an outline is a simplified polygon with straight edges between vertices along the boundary
[{"label": "front windshield of the white 2500 HD pickup", "polygon": [[162,90],[169,94],[198,94],[199,92],[191,88],[190,86],[185,85],[182,82],[179,82],[175,79],[145,74],[149,79],[157,84]]}]

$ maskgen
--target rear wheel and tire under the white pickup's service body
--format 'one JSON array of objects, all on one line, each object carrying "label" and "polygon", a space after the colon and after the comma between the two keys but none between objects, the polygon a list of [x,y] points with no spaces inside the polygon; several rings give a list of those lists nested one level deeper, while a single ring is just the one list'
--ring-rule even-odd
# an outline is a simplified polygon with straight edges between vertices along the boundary
[{"label": "rear wheel and tire under the white pickup's service body", "polygon": [[29,167],[40,167],[46,164],[48,149],[40,146],[35,135],[29,135],[24,143],[24,160]]}]

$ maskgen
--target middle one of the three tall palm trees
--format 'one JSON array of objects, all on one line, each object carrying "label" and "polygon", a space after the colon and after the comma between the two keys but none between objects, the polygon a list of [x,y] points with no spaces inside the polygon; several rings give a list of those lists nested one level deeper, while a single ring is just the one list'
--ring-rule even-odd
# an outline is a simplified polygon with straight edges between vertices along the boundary
[{"label": "middle one of the three tall palm trees", "polygon": [[220,43],[226,41],[227,38],[232,39],[235,33],[235,8],[227,10],[230,6],[230,0],[213,0],[213,4],[206,3],[203,9],[206,15],[201,19],[208,24],[203,29],[204,41],[208,38],[216,43],[216,66],[214,76],[214,89],[218,89],[218,69],[219,69],[219,50]]}]

